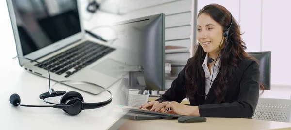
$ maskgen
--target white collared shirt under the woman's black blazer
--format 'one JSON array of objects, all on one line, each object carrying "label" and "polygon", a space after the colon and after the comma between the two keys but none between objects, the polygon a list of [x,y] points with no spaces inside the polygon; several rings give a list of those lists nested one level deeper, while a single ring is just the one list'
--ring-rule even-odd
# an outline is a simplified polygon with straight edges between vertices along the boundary
[{"label": "white collared shirt under the woman's black blazer", "polygon": [[[208,53],[206,54],[205,59],[204,59],[203,64],[202,64],[202,68],[203,68],[204,74],[205,74],[205,94],[206,95],[209,92],[209,90],[213,84],[213,81],[219,72],[218,69],[219,69],[219,65],[220,65],[220,60],[217,59],[215,65],[213,65],[211,67],[211,75],[210,75],[210,72],[209,72],[209,69],[207,66],[207,60],[208,60]],[[213,62],[215,62],[215,61],[213,61]],[[214,75],[213,75],[213,67],[214,67]],[[213,78],[212,78],[212,75],[213,75]],[[212,78],[212,80],[211,80],[211,78]],[[211,86],[210,86],[210,83],[211,83]],[[206,98],[206,96],[205,96],[205,98]]]}]

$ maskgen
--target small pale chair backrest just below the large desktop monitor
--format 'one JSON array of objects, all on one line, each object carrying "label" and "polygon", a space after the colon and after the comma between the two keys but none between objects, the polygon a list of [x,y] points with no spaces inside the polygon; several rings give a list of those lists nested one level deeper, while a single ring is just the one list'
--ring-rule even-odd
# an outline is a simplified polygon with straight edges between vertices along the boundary
[{"label": "small pale chair backrest just below the large desktop monitor", "polygon": [[129,94],[128,106],[139,107],[142,104],[147,103],[149,95],[143,94]]}]

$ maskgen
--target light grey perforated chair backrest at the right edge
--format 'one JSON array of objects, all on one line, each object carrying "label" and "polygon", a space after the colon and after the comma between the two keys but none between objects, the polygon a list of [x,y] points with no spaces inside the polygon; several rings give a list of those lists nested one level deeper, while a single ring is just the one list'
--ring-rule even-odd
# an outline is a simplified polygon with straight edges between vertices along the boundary
[{"label": "light grey perforated chair backrest at the right edge", "polygon": [[252,119],[291,122],[291,99],[259,98]]}]

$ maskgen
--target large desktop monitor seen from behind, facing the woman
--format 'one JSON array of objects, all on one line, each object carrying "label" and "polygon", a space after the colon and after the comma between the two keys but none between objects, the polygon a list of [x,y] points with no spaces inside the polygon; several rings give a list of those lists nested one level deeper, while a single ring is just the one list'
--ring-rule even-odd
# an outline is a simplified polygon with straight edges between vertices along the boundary
[{"label": "large desktop monitor seen from behind, facing the woman", "polygon": [[[165,90],[165,14],[150,15],[112,25],[114,46],[132,54],[127,62],[129,89]],[[130,69],[130,70],[129,70]]]}]

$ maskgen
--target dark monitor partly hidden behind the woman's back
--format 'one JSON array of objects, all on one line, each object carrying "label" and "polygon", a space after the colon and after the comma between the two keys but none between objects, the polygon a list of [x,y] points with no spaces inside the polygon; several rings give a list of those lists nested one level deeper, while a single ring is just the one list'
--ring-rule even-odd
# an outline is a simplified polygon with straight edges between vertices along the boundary
[{"label": "dark monitor partly hidden behind the woman's back", "polygon": [[270,90],[271,52],[249,52],[249,54],[258,60],[261,83],[263,83],[265,90]]}]

